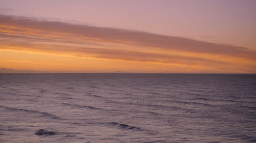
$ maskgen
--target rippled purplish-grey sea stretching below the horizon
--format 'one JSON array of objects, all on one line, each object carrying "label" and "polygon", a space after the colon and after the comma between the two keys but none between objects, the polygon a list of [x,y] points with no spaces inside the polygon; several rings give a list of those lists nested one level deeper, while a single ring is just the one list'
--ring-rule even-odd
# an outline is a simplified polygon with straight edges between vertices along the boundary
[{"label": "rippled purplish-grey sea stretching below the horizon", "polygon": [[256,75],[0,74],[0,142],[256,142]]}]

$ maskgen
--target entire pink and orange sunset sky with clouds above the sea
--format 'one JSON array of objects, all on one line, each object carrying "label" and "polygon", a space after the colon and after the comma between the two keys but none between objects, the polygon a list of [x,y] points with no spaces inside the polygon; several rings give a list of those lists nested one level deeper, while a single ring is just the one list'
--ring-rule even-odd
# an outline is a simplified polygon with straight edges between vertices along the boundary
[{"label": "entire pink and orange sunset sky with clouds above the sea", "polygon": [[0,0],[0,71],[256,73],[255,7],[254,0]]}]

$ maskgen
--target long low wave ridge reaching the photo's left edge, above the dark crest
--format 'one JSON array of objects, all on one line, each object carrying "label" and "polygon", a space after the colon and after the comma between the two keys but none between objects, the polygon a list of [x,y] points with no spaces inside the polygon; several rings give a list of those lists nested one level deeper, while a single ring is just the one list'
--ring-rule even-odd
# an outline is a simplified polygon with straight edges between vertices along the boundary
[{"label": "long low wave ridge reaching the photo's left edge, above the dark crest", "polygon": [[4,109],[7,109],[7,110],[12,110],[12,111],[24,111],[24,112],[28,112],[28,113],[38,113],[43,117],[49,117],[51,119],[60,119],[56,115],[53,115],[52,113],[48,113],[48,112],[28,110],[28,109],[20,109],[20,108],[14,108],[14,107],[2,106],[2,105],[0,105],[0,107],[4,108]]}]

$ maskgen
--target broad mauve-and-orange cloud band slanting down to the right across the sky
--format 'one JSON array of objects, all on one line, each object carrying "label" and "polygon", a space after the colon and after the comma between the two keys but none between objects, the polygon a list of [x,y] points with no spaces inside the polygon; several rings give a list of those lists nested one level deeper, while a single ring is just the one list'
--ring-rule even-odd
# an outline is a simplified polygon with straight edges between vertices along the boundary
[{"label": "broad mauve-and-orange cloud band slanting down to the right across the sky", "polygon": [[0,48],[99,59],[255,69],[256,51],[193,39],[0,15]]}]

